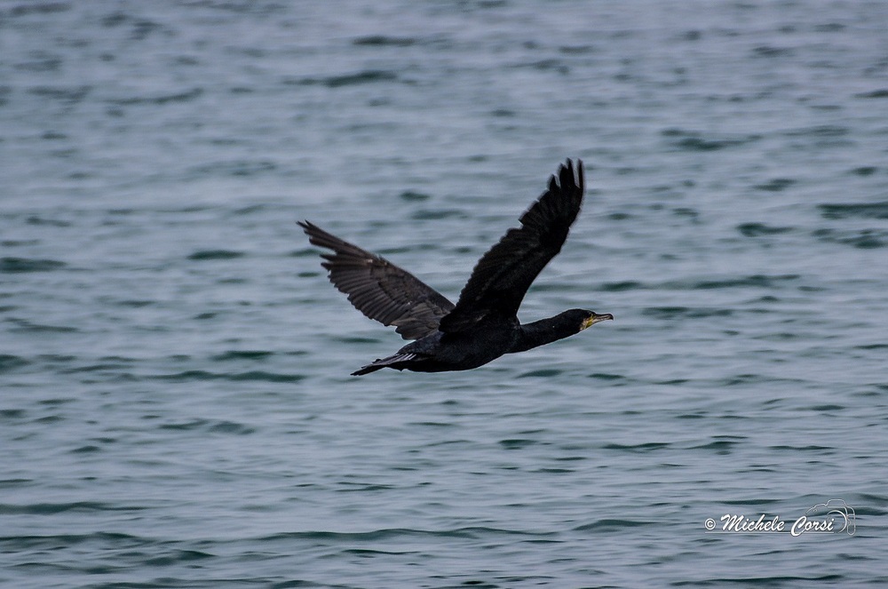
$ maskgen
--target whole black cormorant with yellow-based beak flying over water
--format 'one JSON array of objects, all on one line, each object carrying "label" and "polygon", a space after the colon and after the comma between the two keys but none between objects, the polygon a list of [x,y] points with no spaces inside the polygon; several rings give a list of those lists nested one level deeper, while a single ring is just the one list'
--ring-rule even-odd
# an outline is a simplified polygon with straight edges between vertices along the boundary
[{"label": "whole black cormorant with yellow-based beak flying over water", "polygon": [[558,179],[481,257],[454,305],[447,298],[388,260],[346,243],[308,221],[298,222],[321,254],[329,280],[361,313],[394,325],[404,339],[416,341],[397,353],[352,373],[383,368],[443,372],[469,370],[503,354],[524,352],[567,338],[614,315],[571,309],[548,319],[521,324],[518,307],[530,284],[554,258],[583,203],[583,162],[559,166]]}]

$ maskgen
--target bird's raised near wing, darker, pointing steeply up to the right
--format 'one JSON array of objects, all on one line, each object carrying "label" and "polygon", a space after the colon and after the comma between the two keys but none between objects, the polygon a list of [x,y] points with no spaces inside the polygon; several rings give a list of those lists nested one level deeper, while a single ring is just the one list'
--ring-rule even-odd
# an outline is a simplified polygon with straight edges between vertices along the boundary
[{"label": "bird's raised near wing, darker, pointing steeply up to the right", "polygon": [[509,229],[472,270],[456,307],[440,321],[441,331],[460,331],[491,313],[518,313],[527,289],[567,239],[583,203],[583,162],[559,167],[549,189],[521,215],[521,227]]}]

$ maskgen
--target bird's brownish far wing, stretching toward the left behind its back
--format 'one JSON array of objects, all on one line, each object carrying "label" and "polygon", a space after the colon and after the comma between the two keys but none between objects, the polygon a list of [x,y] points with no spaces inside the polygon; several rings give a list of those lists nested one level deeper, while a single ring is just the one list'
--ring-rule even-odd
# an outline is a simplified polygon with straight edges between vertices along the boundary
[{"label": "bird's brownish far wing, stretching toward the left behind its back", "polygon": [[385,258],[361,250],[308,221],[298,221],[321,254],[329,279],[345,292],[354,308],[384,325],[394,325],[404,339],[419,339],[438,330],[441,317],[454,305],[440,292]]}]

